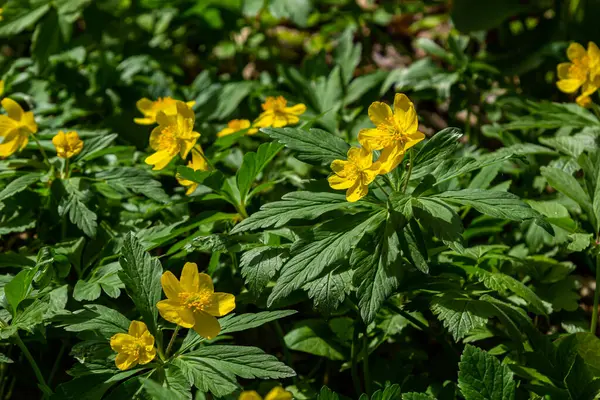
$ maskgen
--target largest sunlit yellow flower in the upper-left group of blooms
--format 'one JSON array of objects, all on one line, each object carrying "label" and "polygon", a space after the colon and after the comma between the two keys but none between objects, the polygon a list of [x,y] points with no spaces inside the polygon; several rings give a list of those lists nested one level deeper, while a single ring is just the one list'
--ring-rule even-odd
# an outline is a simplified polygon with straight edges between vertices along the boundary
[{"label": "largest sunlit yellow flower in the upper-left group of blooms", "polygon": [[200,137],[194,132],[196,117],[192,109],[183,101],[177,101],[175,106],[175,115],[163,111],[157,114],[158,126],[150,134],[150,147],[156,153],[146,158],[146,164],[154,165],[154,170],[166,167],[177,153],[185,159]]}]

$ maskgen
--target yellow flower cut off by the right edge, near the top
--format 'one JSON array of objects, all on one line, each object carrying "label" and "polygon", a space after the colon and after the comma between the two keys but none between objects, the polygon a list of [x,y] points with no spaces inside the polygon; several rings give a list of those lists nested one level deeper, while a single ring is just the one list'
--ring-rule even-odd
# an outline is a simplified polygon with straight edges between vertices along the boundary
[{"label": "yellow flower cut off by the right edge, near the top", "polygon": [[577,104],[589,106],[592,102],[590,95],[600,87],[600,49],[592,42],[588,43],[587,51],[579,43],[571,43],[567,57],[571,62],[560,63],[556,68],[556,86],[565,93],[575,93],[581,88]]}]

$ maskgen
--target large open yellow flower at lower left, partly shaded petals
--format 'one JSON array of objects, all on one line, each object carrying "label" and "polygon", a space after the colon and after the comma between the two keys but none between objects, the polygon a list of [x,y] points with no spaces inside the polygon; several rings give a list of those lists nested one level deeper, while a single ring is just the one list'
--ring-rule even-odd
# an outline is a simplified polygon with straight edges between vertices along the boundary
[{"label": "large open yellow flower at lower left, partly shaded petals", "polygon": [[221,326],[215,317],[222,317],[235,308],[235,296],[215,293],[212,279],[199,274],[196,263],[186,263],[178,281],[171,271],[160,278],[167,300],[156,305],[164,319],[184,328],[194,328],[200,336],[212,339]]}]

